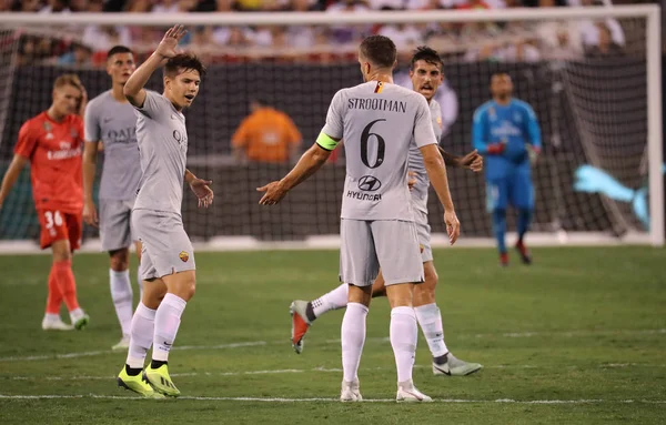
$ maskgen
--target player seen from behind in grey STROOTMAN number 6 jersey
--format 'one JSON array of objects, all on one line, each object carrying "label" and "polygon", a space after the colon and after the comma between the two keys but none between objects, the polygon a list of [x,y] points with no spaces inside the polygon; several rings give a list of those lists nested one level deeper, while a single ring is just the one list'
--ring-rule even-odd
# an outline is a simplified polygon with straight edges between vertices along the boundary
[{"label": "player seen from behind in grey STROOTMAN number 6 jersey", "polygon": [[272,205],[324,164],[344,138],[346,179],[341,213],[341,281],[349,284],[342,321],[343,381],[341,401],[361,401],[359,363],[365,342],[365,320],[372,284],[380,267],[391,304],[391,345],[397,367],[397,401],[427,402],[412,381],[417,326],[412,305],[415,283],[424,281],[423,264],[410,201],[410,145],[420,148],[425,170],[444,206],[451,243],[460,234],[448,191],[446,169],[437,150],[425,98],[393,84],[397,52],[383,36],[363,40],[359,63],[364,83],[335,93],[326,124],[316,142],[282,180],[259,188],[260,203]]}]

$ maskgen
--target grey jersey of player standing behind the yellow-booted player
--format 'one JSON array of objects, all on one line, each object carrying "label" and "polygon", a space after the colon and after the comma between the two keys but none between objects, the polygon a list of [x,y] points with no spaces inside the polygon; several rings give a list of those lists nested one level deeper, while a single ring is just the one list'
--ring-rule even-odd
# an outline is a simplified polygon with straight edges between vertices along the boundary
[{"label": "grey jersey of player standing behind the yellow-booted player", "polygon": [[88,103],[84,122],[85,140],[104,145],[100,199],[133,200],[141,179],[134,108],[107,91]]}]

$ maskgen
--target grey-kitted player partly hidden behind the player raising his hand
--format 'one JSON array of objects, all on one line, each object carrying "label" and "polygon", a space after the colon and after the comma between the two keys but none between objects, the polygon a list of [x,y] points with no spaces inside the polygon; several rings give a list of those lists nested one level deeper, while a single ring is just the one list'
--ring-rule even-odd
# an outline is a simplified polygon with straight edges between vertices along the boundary
[{"label": "grey-kitted player partly hidden behind the player raising his hand", "polygon": [[[137,69],[132,51],[115,45],[107,54],[107,73],[111,90],[88,103],[85,109],[85,148],[83,150],[83,220],[99,226],[102,250],[109,252],[109,280],[111,298],[122,330],[122,338],[113,350],[130,346],[133,292],[130,281],[130,245],[135,241],[137,253],[141,244],[132,234],[130,215],[139,189],[141,164],[137,145],[137,115],[122,89]],[[92,186],[97,169],[98,144],[104,146],[104,164],[100,184],[100,213],[94,206]],[[139,277],[141,285],[141,277]]]}]

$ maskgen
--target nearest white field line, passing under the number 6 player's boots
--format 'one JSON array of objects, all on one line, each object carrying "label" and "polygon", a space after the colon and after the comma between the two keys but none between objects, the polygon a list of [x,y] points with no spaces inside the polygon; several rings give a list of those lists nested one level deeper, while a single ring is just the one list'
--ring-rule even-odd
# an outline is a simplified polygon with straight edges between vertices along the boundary
[{"label": "nearest white field line, passing under the number 6 player's boots", "polygon": [[[85,394],[85,395],[7,395],[0,394],[0,399],[135,399],[144,401],[147,398],[131,397],[131,396],[117,396],[117,395],[102,395],[102,394]],[[324,397],[312,397],[312,398],[285,398],[285,397],[192,397],[183,396],[179,399],[196,401],[196,402],[268,402],[268,403],[340,403],[339,398],[324,398]],[[151,401],[154,402],[154,401]],[[663,399],[512,399],[512,398],[498,398],[498,399],[456,399],[456,398],[441,398],[434,399],[435,403],[474,403],[474,404],[666,404]],[[157,403],[160,403],[159,401]],[[362,403],[395,403],[393,398],[364,398]]]}]

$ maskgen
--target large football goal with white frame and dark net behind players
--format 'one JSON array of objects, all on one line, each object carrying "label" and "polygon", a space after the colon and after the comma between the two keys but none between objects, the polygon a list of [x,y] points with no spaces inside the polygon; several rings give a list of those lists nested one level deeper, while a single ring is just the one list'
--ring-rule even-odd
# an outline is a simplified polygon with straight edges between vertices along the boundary
[{"label": "large football goal with white frame and dark net behind players", "polygon": [[[408,59],[416,45],[441,53],[441,145],[454,154],[472,149],[472,117],[490,98],[491,74],[509,73],[515,97],[534,108],[543,135],[544,149],[533,168],[533,242],[662,244],[658,19],[652,6],[483,13],[4,13],[0,171],[11,161],[21,124],[49,107],[59,74],[77,72],[92,99],[110,88],[104,68],[109,48],[129,44],[140,62],[164,28],[179,22],[190,29],[182,49],[199,54],[209,68],[199,98],[185,112],[188,166],[213,180],[216,193],[210,210],[199,210],[185,191],[183,220],[192,240],[220,249],[265,242],[334,244],[345,175],[343,150],[281,205],[268,209],[258,205],[255,188],[284,175],[290,162],[241,160],[232,139],[251,113],[251,102],[262,100],[291,118],[303,141],[297,152],[303,152],[319,134],[333,94],[361,82],[360,38],[382,33],[396,41],[395,82],[405,87],[411,88]],[[161,74],[148,87],[160,91]],[[265,152],[282,142],[278,135],[262,141]],[[450,169],[448,179],[463,229],[461,244],[487,243],[492,225],[484,176]],[[442,212],[431,193],[435,243],[445,232]],[[509,229],[515,229],[508,216]],[[26,170],[0,210],[0,242],[38,235]],[[85,239],[95,237],[97,231],[87,227]]]}]

